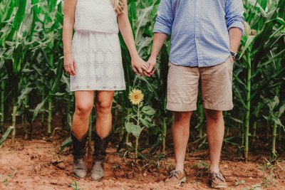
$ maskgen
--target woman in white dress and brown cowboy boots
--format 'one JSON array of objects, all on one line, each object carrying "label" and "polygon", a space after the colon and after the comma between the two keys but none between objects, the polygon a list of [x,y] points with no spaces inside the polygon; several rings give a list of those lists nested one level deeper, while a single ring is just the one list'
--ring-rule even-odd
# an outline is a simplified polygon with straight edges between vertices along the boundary
[{"label": "woman in white dress and brown cowboy boots", "polygon": [[91,179],[100,180],[104,176],[114,90],[125,90],[119,28],[130,51],[133,70],[142,75],[148,65],[135,48],[125,0],[66,0],[64,3],[64,68],[71,75],[71,91],[75,91],[76,97],[71,138],[73,176],[78,178],[84,178],[87,172],[85,147],[94,92],[96,125]]}]

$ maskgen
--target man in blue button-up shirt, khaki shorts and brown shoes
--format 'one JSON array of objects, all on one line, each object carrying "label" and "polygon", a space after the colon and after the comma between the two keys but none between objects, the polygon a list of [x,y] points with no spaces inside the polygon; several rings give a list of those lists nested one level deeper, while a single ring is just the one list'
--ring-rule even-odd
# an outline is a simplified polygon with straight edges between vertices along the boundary
[{"label": "man in blue button-up shirt, khaki shorts and brown shoes", "polygon": [[232,68],[244,30],[242,0],[161,0],[155,21],[152,75],[157,55],[171,34],[167,80],[167,109],[175,112],[172,136],[175,169],[165,183],[179,186],[186,181],[184,162],[190,134],[190,118],[197,109],[199,80],[207,119],[212,188],[227,182],[219,171],[224,138],[222,111],[232,110]]}]

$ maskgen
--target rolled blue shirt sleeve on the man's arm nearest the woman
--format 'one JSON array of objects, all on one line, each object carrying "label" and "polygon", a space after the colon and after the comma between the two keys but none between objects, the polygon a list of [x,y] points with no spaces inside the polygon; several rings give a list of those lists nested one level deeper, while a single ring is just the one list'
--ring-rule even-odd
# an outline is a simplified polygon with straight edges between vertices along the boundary
[{"label": "rolled blue shirt sleeve on the man's arm nearest the woman", "polygon": [[173,15],[171,0],[160,1],[160,6],[157,11],[157,18],[155,20],[154,33],[170,34],[173,24]]}]

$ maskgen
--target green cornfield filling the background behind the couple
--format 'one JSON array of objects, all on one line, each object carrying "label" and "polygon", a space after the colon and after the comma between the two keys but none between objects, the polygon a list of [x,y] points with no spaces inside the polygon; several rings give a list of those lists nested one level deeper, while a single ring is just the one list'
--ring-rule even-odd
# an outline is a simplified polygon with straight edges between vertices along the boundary
[{"label": "green cornfield filling the background behind the couple", "polygon": [[[128,1],[135,43],[145,60],[150,56],[159,3]],[[11,138],[11,146],[18,139],[31,139],[35,130],[44,131],[48,139],[53,139],[56,130],[71,130],[74,97],[63,72],[62,7],[61,0],[0,0],[0,147],[6,139]],[[244,9],[245,33],[234,64],[234,110],[224,112],[224,143],[236,147],[233,153],[245,161],[261,145],[270,150],[264,157],[274,162],[284,154],[285,143],[285,1],[244,0]],[[152,78],[133,73],[121,36],[120,41],[127,90],[116,92],[113,102],[118,152],[135,152],[140,159],[163,155],[172,123],[172,113],[166,110],[170,39]],[[147,116],[139,132],[125,125],[133,112],[128,100],[133,88],[145,94],[142,112]],[[62,125],[54,127],[55,120]],[[90,117],[90,132],[94,121],[95,112]],[[198,149],[207,144],[201,106],[193,115],[191,133],[190,141]],[[138,147],[130,134],[142,137],[136,141]],[[66,139],[61,149],[70,144],[71,139]]]}]

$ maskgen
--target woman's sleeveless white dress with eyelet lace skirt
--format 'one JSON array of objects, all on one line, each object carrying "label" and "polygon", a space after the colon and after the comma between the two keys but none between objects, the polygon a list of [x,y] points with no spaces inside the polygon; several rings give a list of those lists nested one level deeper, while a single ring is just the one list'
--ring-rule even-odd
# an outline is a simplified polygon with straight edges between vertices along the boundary
[{"label": "woman's sleeveless white dress with eyelet lace skirt", "polygon": [[72,53],[71,91],[125,90],[117,14],[111,0],[78,0]]}]

